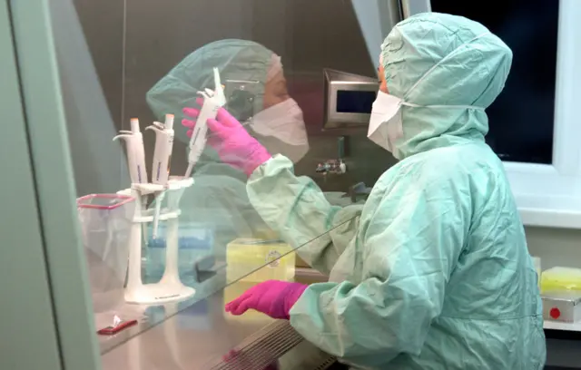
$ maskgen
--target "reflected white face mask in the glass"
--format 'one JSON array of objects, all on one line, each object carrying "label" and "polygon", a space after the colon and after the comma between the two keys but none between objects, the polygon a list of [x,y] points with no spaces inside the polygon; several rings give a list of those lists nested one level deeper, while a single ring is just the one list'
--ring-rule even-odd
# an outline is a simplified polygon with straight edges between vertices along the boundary
[{"label": "reflected white face mask in the glass", "polygon": [[[283,148],[274,148],[275,151],[297,162],[309,151],[309,139],[307,129],[302,118],[302,111],[294,99],[287,99],[259,112],[251,118],[251,128],[256,133],[265,137],[273,137],[291,147],[291,152]],[[267,148],[268,149],[268,148]]]}]

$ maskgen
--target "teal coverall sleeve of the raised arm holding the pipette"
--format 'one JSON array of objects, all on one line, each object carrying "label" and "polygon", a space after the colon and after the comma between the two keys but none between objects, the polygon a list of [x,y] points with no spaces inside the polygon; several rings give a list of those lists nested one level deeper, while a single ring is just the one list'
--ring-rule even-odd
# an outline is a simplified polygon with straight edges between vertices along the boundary
[{"label": "teal coverall sleeve of the raised arm holding the pipette", "polygon": [[331,206],[313,180],[294,175],[292,162],[282,155],[254,170],[246,189],[264,222],[328,276],[355,238],[362,206]]}]

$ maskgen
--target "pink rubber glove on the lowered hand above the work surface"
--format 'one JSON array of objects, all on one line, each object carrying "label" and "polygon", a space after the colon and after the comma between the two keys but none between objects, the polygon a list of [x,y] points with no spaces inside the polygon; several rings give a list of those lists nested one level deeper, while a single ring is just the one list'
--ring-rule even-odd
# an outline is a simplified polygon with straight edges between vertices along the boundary
[{"label": "pink rubber glove on the lowered hand above the work surface", "polygon": [[240,316],[255,309],[272,318],[290,318],[292,306],[307,288],[304,284],[268,280],[251,287],[240,297],[226,305],[226,312]]}]

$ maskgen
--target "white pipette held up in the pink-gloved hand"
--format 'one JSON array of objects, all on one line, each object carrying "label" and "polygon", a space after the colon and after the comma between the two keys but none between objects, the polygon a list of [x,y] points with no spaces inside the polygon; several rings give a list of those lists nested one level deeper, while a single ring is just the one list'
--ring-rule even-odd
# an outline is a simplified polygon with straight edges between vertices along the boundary
[{"label": "white pipette held up in the pink-gloved hand", "polygon": [[224,96],[224,89],[220,82],[220,73],[218,68],[214,68],[214,91],[205,89],[204,92],[198,92],[203,96],[203,105],[200,110],[200,115],[193,127],[192,138],[190,138],[190,154],[188,155],[188,169],[185,171],[185,177],[192,175],[193,166],[200,160],[203,148],[206,146],[206,133],[208,125],[206,122],[209,119],[215,119],[218,110],[226,104],[226,97]]}]

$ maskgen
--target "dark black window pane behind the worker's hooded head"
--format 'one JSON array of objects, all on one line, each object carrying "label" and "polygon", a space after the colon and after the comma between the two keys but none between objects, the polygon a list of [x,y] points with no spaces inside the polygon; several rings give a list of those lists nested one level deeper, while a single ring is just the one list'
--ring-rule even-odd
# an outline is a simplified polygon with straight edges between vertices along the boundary
[{"label": "dark black window pane behind the worker's hooded head", "polygon": [[488,145],[503,161],[552,164],[559,2],[507,0],[494,12],[462,0],[431,6],[486,25],[513,51],[505,88],[487,108]]}]

